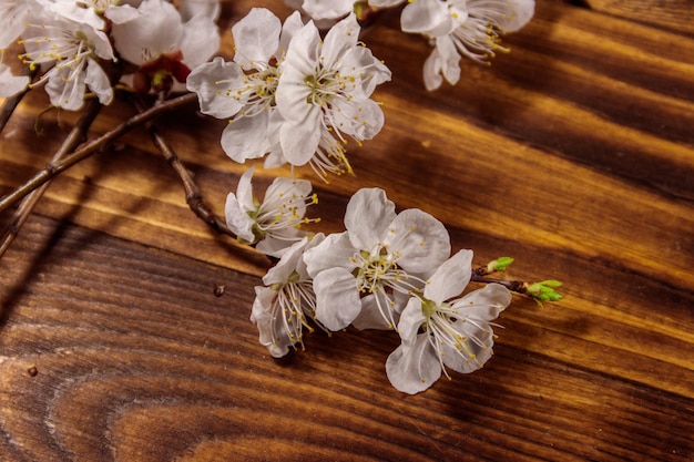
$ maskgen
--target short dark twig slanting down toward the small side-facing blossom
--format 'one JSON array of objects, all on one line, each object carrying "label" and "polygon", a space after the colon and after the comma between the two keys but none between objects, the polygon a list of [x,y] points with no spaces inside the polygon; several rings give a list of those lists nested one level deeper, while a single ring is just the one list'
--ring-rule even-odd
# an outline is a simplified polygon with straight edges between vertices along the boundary
[{"label": "short dark twig slanting down toward the small side-facing blossom", "polygon": [[[162,102],[157,101],[156,104],[162,104]],[[144,102],[140,97],[135,100],[135,107],[140,111],[140,113],[143,113],[146,110]],[[216,216],[214,212],[212,212],[212,209],[203,202],[203,195],[200,192],[197,184],[195,184],[193,176],[185,165],[183,165],[178,155],[169,145],[169,143],[166,143],[156,125],[152,122],[147,122],[145,126],[150,132],[150,136],[152,136],[154,145],[161,151],[166,162],[169,162],[169,165],[173,167],[181,178],[183,188],[185,189],[185,202],[188,207],[191,207],[191,211],[193,211],[200,219],[210,225],[210,227],[212,227],[215,232],[236,238],[236,235],[226,226],[226,223]]]}]

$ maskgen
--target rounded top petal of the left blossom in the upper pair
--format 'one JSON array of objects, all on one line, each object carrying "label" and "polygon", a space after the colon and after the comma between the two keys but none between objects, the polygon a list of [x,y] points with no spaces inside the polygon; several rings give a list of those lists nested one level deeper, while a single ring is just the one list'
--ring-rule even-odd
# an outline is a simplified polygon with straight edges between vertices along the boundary
[{"label": "rounded top petal of the left blossom in the upper pair", "polygon": [[265,8],[253,8],[232,28],[236,47],[234,61],[244,69],[257,69],[256,62],[269,62],[277,51],[280,31],[282,23],[274,13]]}]

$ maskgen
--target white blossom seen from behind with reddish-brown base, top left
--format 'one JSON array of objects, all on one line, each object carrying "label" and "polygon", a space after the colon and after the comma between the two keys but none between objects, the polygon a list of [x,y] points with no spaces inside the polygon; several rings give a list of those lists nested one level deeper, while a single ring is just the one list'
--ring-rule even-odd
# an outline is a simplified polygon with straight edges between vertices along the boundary
[{"label": "white blossom seen from behind with reddish-brown base, top left", "polygon": [[144,0],[137,11],[135,19],[113,24],[111,34],[121,58],[139,66],[133,85],[140,92],[170,91],[220,48],[217,27],[205,14],[184,22],[163,0]]}]

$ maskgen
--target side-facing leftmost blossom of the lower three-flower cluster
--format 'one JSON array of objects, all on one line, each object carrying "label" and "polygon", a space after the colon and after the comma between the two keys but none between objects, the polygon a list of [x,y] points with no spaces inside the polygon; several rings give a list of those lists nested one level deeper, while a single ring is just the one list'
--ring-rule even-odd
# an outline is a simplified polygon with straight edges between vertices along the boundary
[{"label": "side-facing leftmost blossom of the lower three-flower cluster", "polygon": [[255,288],[251,320],[258,328],[261,343],[275,358],[285,356],[289,347],[304,348],[304,330],[314,330],[309,319],[325,330],[315,318],[316,296],[303,258],[323,238],[317,234],[292,245],[263,277],[266,287]]}]

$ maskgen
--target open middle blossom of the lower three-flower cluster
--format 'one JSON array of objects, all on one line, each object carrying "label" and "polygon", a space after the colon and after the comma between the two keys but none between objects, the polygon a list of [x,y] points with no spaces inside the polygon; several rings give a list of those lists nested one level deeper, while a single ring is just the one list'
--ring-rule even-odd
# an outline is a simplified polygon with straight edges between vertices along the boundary
[{"label": "open middle blossom of the lower three-flower cluster", "polygon": [[404,301],[450,255],[443,225],[419,209],[399,214],[382,189],[359,189],[345,214],[347,230],[306,251],[316,316],[330,330],[392,329]]}]

